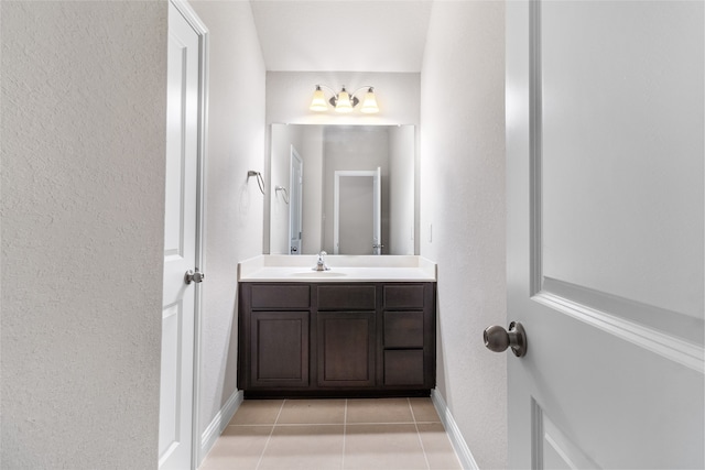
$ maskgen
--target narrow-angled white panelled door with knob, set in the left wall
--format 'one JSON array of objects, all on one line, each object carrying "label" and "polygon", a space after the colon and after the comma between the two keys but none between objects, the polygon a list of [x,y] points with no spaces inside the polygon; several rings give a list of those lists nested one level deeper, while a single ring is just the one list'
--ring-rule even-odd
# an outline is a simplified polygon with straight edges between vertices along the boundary
[{"label": "narrow-angled white panelled door with knob, set in the left wall", "polygon": [[197,264],[199,36],[169,4],[164,287],[160,469],[193,467],[194,323]]}]

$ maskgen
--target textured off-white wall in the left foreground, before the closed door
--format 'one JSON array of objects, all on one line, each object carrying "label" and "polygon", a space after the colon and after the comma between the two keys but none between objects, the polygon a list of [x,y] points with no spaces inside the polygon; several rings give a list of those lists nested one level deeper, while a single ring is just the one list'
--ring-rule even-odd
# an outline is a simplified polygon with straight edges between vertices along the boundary
[{"label": "textured off-white wall in the left foreground, before the closed door", "polygon": [[167,3],[0,8],[0,467],[156,468]]}]

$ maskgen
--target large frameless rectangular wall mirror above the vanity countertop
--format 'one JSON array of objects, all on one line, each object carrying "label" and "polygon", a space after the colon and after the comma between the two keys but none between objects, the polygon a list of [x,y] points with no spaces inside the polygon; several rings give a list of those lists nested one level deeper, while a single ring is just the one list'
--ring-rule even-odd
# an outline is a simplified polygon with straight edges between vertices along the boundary
[{"label": "large frameless rectangular wall mirror above the vanity countertop", "polygon": [[[271,254],[417,254],[413,125],[272,124],[271,136]],[[296,185],[293,155],[300,211],[284,197]],[[373,173],[377,189],[372,176],[351,176]]]}]

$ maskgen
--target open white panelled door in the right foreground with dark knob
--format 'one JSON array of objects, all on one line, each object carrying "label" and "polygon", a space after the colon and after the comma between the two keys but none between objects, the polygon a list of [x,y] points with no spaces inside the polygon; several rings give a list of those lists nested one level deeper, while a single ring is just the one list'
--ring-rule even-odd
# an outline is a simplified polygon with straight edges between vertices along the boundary
[{"label": "open white panelled door in the right foreground with dark knob", "polygon": [[513,468],[704,462],[703,2],[507,2]]}]

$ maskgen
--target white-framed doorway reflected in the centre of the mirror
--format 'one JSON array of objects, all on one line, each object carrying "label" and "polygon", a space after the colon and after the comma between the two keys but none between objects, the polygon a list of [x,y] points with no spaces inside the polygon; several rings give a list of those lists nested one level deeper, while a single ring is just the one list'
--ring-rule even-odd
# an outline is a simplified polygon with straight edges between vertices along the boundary
[{"label": "white-framed doorway reflected in the centre of the mirror", "polygon": [[334,254],[382,254],[381,168],[335,172]]}]

